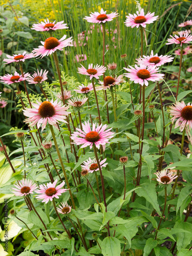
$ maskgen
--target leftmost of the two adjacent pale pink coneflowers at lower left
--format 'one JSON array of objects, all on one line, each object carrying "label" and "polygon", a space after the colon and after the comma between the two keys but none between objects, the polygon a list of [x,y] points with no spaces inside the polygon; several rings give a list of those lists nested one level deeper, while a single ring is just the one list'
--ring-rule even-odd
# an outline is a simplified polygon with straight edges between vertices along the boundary
[{"label": "leftmost of the two adjacent pale pink coneflowers at lower left", "polygon": [[18,181],[18,184],[14,184],[16,188],[13,188],[12,193],[16,197],[23,197],[29,194],[33,194],[33,190],[37,188],[37,185],[33,183],[32,180],[23,179],[22,181]]}]

